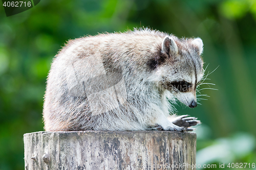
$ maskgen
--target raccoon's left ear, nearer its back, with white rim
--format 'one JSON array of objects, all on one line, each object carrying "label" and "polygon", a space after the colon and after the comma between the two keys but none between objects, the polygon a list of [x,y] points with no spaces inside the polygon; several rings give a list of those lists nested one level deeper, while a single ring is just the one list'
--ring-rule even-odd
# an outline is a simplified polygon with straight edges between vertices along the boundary
[{"label": "raccoon's left ear, nearer its back, with white rim", "polygon": [[178,47],[172,37],[166,36],[162,43],[162,52],[170,55],[178,54]]}]

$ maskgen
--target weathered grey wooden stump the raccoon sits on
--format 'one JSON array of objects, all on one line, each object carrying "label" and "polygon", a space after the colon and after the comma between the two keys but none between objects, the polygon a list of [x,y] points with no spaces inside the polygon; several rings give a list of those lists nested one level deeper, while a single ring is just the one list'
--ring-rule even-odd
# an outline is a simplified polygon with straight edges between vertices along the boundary
[{"label": "weathered grey wooden stump the raccoon sits on", "polygon": [[191,132],[35,132],[24,134],[24,143],[25,169],[192,169],[196,164]]}]

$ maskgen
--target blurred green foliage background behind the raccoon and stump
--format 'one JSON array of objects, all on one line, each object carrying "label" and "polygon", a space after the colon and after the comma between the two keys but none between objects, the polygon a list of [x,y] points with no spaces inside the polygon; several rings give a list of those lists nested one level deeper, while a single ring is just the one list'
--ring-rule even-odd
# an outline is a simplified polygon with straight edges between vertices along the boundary
[{"label": "blurred green foliage background behind the raccoon and stump", "polygon": [[[216,84],[210,87],[218,90],[202,90],[210,96],[208,101],[202,100],[195,109],[179,104],[178,114],[190,114],[202,121],[197,149],[201,155],[201,151],[207,151],[203,157],[212,155],[209,148],[221,145],[225,150],[239,141],[234,148],[251,147],[241,148],[243,154],[230,151],[226,162],[256,163],[255,0],[42,0],[10,17],[0,7],[1,170],[24,169],[23,134],[44,130],[41,113],[45,82],[60,47],[83,35],[134,27],[202,38],[206,72],[219,66],[207,82]],[[198,155],[197,161],[207,162],[201,157]],[[211,158],[208,163],[218,167],[224,160]]]}]

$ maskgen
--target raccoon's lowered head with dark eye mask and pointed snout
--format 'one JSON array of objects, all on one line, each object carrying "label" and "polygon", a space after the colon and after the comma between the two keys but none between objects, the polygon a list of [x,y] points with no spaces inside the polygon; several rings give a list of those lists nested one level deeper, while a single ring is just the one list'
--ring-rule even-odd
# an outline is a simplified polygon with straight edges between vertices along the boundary
[{"label": "raccoon's lowered head with dark eye mask and pointed snout", "polygon": [[203,42],[200,38],[166,36],[158,51],[158,85],[190,108],[197,107],[196,88],[203,77]]}]

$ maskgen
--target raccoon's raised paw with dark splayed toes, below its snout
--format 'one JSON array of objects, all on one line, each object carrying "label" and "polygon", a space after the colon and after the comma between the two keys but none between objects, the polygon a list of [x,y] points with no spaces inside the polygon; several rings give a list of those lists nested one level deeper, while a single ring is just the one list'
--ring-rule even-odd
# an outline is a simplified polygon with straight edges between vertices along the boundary
[{"label": "raccoon's raised paw with dark splayed toes, below its snout", "polygon": [[188,117],[189,115],[181,115],[181,116],[168,116],[168,120],[172,122],[174,125],[177,125],[179,127],[186,128],[186,131],[193,131],[194,128],[189,128],[191,126],[199,125],[201,124],[200,120],[197,120],[196,117]]}]

